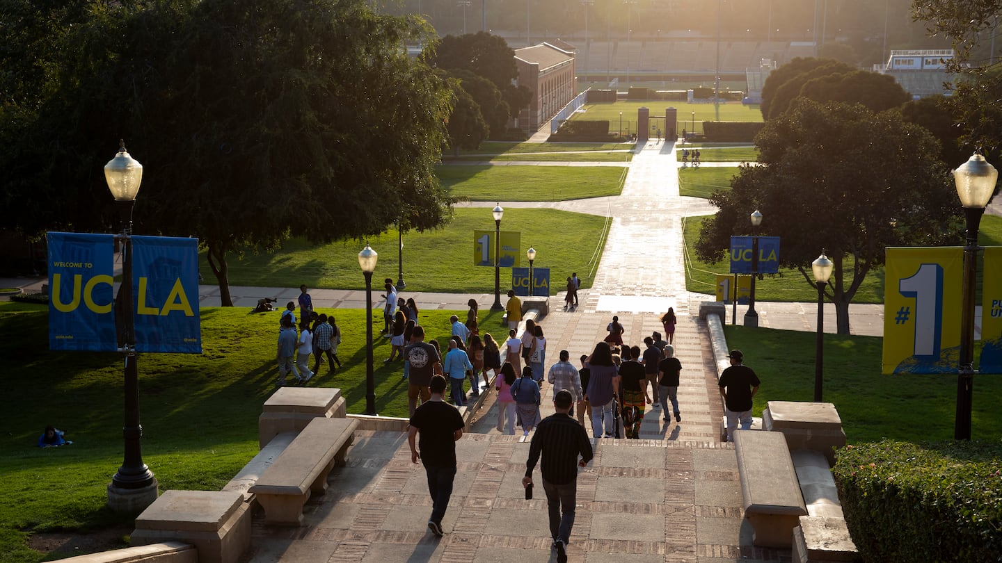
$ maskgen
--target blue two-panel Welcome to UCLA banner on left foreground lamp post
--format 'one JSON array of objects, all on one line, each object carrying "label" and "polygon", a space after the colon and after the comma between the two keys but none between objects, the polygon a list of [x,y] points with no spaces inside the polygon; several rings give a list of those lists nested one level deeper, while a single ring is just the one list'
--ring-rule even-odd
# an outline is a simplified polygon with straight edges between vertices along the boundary
[{"label": "blue two-panel Welcome to UCLA banner on left foreground lamp post", "polygon": [[[114,235],[48,233],[49,348],[117,350]],[[141,353],[201,353],[198,241],[132,236],[135,348]]]}]

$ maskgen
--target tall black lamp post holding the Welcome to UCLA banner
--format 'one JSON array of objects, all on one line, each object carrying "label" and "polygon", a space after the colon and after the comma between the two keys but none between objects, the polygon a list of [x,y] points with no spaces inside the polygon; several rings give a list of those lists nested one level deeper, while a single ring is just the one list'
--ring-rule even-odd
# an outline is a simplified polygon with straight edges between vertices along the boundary
[{"label": "tall black lamp post holding the Welcome to UCLA banner", "polygon": [[142,425],[139,424],[139,370],[135,351],[135,305],[132,301],[132,207],[142,182],[142,164],[125,150],[119,141],[118,153],[104,165],[104,179],[121,213],[122,283],[116,305],[120,308],[118,352],[125,355],[125,425],[122,435],[125,454],[121,467],[108,485],[108,506],[119,512],[137,512],[153,504],[157,495],[156,478],[142,463]]}]

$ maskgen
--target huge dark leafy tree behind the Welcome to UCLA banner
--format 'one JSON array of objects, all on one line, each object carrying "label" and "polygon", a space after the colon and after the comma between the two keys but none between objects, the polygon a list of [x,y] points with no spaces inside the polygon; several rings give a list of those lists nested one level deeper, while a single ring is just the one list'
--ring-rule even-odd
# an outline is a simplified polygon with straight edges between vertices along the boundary
[{"label": "huge dark leafy tree behind the Welcome to UCLA banner", "polygon": [[106,228],[100,166],[124,137],[145,168],[136,231],[198,236],[230,305],[226,260],[241,248],[431,228],[451,212],[433,167],[453,96],[402,48],[430,39],[420,20],[364,0],[79,3],[90,15],[65,39],[78,55],[51,93],[37,111],[0,109],[19,110],[0,138],[22,141],[0,156],[14,172],[7,224]]}]

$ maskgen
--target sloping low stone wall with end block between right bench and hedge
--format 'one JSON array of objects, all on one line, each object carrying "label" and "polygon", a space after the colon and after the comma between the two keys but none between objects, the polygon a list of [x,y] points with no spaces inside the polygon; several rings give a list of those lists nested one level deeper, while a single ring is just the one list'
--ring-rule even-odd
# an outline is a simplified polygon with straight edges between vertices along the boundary
[{"label": "sloping low stone wall with end block between right bench and hedge", "polygon": [[801,516],[800,526],[794,529],[794,561],[859,560],[825,455],[813,450],[797,450],[791,457],[808,508],[808,515]]}]

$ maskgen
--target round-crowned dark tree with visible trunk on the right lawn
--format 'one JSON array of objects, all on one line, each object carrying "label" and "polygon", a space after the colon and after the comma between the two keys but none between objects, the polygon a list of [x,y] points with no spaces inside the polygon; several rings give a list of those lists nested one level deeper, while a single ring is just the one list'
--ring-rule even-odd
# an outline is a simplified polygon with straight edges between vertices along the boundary
[{"label": "round-crowned dark tree with visible trunk on the right lawn", "polygon": [[703,221],[696,254],[721,259],[761,210],[762,234],[782,238],[781,265],[813,287],[811,261],[824,250],[835,263],[827,295],[839,334],[849,334],[849,304],[887,246],[956,240],[956,194],[937,142],[896,110],[800,99],[766,123],[756,146],[760,164],[710,197],[719,210]]}]

